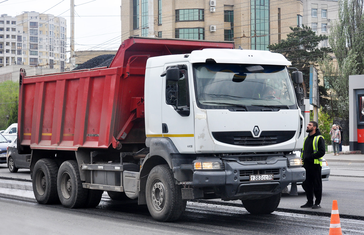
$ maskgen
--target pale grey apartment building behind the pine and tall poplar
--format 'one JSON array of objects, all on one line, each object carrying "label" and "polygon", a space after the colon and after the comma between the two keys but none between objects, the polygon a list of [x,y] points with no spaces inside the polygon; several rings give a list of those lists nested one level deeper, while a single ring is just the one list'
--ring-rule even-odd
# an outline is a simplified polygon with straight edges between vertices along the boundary
[{"label": "pale grey apartment building behind the pine and tall poplar", "polygon": [[[330,34],[330,24],[339,19],[339,3],[337,0],[304,0],[303,24],[312,28],[316,35]],[[328,40],[321,41],[319,47],[329,46]]]}]

